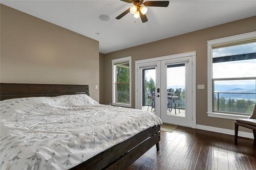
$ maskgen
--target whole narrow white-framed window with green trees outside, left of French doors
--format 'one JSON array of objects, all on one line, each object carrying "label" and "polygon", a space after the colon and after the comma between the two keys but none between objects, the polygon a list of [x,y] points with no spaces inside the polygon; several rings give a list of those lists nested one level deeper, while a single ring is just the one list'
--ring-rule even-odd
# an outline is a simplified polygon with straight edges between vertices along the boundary
[{"label": "whole narrow white-framed window with green trees outside, left of French doors", "polygon": [[131,57],[112,60],[112,105],[131,107]]}]

